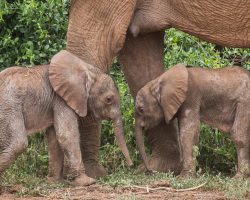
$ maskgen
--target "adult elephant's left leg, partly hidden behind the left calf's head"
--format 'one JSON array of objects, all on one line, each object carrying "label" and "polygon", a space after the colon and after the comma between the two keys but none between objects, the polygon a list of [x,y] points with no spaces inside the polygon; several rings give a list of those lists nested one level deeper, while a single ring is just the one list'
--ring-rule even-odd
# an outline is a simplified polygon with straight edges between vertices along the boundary
[{"label": "adult elephant's left leg, partly hidden behind the left calf's head", "polygon": [[[85,62],[108,72],[123,46],[136,0],[74,0],[67,32],[67,50]],[[82,156],[87,175],[106,175],[98,164],[100,123],[80,120]]]}]

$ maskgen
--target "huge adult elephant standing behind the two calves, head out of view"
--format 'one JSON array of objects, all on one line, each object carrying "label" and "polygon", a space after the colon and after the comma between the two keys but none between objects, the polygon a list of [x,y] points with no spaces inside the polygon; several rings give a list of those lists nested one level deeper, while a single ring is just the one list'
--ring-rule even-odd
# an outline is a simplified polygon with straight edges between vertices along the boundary
[{"label": "huge adult elephant standing behind the two calves, head out of view", "polygon": [[[105,72],[118,55],[135,96],[143,85],[163,73],[166,28],[178,28],[222,46],[250,47],[249,5],[249,0],[73,0],[67,50]],[[104,176],[106,171],[98,164],[100,123],[90,116],[81,121],[87,174]],[[166,125],[164,121],[147,132],[152,146],[151,169],[179,173],[181,151],[176,132],[175,122]],[[55,146],[50,145],[51,175],[60,176],[60,162],[53,161],[58,152]]]}]

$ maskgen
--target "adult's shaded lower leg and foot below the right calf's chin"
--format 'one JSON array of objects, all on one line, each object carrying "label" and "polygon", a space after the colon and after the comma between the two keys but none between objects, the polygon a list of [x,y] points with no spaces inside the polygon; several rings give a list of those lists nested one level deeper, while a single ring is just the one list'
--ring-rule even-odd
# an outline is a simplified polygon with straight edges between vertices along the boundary
[{"label": "adult's shaded lower leg and foot below the right calf's chin", "polygon": [[[166,125],[163,121],[149,130],[147,137],[152,147],[152,154],[148,158],[150,169],[178,175],[181,172],[182,163],[176,124],[172,122]],[[146,171],[144,164],[139,166],[138,171]]]}]

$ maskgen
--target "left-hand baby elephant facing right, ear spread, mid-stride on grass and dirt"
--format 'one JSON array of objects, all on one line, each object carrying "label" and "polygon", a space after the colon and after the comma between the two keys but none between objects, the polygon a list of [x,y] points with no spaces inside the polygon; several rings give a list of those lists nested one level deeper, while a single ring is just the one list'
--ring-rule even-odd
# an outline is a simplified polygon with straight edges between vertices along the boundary
[{"label": "left-hand baby elephant facing right, ear spread, mid-stride on grass and dirt", "polygon": [[114,122],[118,144],[132,161],[123,136],[118,90],[113,80],[67,51],[51,64],[11,67],[0,73],[0,173],[28,146],[27,135],[53,127],[68,157],[75,184],[90,185],[82,161],[78,117]]}]

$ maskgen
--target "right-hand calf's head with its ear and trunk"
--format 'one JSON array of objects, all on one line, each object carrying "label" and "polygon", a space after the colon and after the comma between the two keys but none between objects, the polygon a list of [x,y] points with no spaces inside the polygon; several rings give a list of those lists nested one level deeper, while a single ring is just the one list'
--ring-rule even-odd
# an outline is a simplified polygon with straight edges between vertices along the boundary
[{"label": "right-hand calf's head with its ear and trunk", "polygon": [[147,83],[136,95],[135,136],[142,159],[148,170],[143,129],[158,125],[163,119],[169,123],[186,99],[188,72],[178,64]]}]

